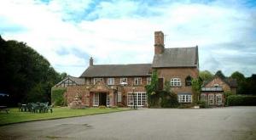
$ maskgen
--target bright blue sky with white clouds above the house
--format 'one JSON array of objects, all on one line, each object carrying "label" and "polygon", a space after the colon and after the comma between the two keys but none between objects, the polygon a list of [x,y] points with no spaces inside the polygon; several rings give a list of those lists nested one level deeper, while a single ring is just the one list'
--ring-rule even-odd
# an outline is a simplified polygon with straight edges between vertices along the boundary
[{"label": "bright blue sky with white clouds above the house", "polygon": [[200,70],[256,73],[254,0],[1,0],[0,35],[26,42],[58,72],[94,64],[152,63],[166,48],[199,48]]}]

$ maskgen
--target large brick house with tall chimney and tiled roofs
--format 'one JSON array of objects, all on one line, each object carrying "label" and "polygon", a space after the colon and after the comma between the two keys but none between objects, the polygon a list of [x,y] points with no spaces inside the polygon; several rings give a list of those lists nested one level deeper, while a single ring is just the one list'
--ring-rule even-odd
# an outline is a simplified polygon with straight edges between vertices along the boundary
[{"label": "large brick house with tall chimney and tiled roofs", "polygon": [[[162,31],[154,32],[152,64],[94,64],[79,77],[69,76],[56,87],[65,87],[67,104],[79,95],[87,106],[147,106],[145,86],[151,81],[152,70],[157,70],[160,88],[170,82],[180,103],[192,102],[191,79],[198,77],[198,48],[165,48]],[[63,84],[66,83],[66,84]],[[69,83],[71,83],[69,85]]]}]

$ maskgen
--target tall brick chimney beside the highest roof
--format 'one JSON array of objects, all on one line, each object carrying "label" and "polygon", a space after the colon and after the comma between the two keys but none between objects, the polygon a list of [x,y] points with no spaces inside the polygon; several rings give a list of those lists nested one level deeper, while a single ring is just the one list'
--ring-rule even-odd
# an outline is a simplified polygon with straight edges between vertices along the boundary
[{"label": "tall brick chimney beside the highest roof", "polygon": [[154,54],[164,53],[165,35],[162,31],[154,31]]}]

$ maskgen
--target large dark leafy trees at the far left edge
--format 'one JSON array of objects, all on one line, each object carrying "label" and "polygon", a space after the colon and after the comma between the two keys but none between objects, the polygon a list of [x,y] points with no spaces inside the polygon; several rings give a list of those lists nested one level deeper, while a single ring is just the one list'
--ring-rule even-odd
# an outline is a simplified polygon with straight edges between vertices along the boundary
[{"label": "large dark leafy trees at the far left edge", "polygon": [[0,36],[0,92],[9,93],[9,105],[50,101],[51,87],[59,74],[47,59],[24,42],[4,41]]}]

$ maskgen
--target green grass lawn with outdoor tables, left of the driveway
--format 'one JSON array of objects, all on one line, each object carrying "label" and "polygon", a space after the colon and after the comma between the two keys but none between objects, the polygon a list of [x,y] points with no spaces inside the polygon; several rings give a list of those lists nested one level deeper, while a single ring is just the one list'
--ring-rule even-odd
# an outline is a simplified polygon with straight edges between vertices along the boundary
[{"label": "green grass lawn with outdoor tables, left of the driveway", "polygon": [[30,113],[30,112],[19,112],[17,108],[10,109],[9,114],[6,112],[0,112],[0,126],[8,125],[18,122],[26,122],[32,120],[49,120],[49,119],[59,119],[67,118],[73,116],[82,116],[82,115],[97,115],[110,112],[118,112],[129,110],[128,108],[117,108],[117,109],[69,109],[67,107],[54,108],[53,113]]}]

